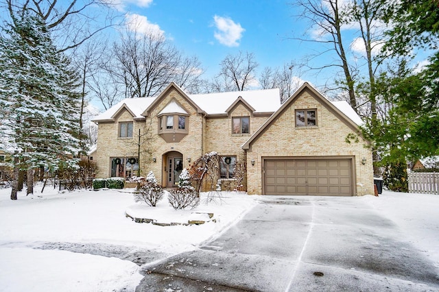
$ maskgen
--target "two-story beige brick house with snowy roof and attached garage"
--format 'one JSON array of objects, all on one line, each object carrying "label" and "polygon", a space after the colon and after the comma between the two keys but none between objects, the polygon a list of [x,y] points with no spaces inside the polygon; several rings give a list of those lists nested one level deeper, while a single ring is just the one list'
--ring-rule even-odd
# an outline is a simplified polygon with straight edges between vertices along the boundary
[{"label": "two-story beige brick house with snowy roof and attached garage", "polygon": [[249,194],[374,193],[367,142],[346,142],[361,119],[307,83],[285,104],[278,89],[188,95],[171,83],[158,97],[125,99],[93,121],[97,177],[128,178],[140,162],[141,175],[151,170],[172,187],[192,160],[216,151],[224,179],[246,162]]}]

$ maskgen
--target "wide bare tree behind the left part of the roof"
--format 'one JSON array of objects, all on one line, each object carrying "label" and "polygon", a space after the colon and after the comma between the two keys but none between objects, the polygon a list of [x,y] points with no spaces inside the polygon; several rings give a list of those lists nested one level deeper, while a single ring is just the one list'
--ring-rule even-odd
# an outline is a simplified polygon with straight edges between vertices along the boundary
[{"label": "wide bare tree behind the left part of the roof", "polygon": [[106,70],[126,98],[158,95],[171,81],[196,89],[203,73],[198,58],[183,56],[158,32],[126,32],[112,56]]}]

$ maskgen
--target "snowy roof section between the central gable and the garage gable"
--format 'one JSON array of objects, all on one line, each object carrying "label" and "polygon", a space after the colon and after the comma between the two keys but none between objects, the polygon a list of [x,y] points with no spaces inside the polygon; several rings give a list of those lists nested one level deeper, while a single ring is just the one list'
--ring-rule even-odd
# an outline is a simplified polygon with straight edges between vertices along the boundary
[{"label": "snowy roof section between the central gable and the garage gable", "polygon": [[239,97],[254,108],[254,112],[276,112],[281,107],[280,96],[278,88],[189,95],[206,114],[226,114]]}]

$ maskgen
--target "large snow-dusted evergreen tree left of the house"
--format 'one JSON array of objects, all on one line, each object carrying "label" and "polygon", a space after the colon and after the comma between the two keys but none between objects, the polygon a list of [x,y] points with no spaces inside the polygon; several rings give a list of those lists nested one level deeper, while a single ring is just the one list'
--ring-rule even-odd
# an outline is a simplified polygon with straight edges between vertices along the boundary
[{"label": "large snow-dusted evergreen tree left of the house", "polygon": [[14,167],[56,167],[82,151],[78,75],[69,64],[38,16],[24,11],[2,27],[0,130]]}]

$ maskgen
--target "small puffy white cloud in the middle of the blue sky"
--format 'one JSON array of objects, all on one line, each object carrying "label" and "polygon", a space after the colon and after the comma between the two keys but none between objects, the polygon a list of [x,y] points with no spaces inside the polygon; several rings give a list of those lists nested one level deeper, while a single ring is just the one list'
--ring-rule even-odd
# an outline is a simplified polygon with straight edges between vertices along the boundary
[{"label": "small puffy white cloud in the middle of the blue sky", "polygon": [[217,31],[213,34],[215,38],[222,45],[227,47],[239,46],[239,40],[242,38],[242,33],[246,29],[242,28],[239,23],[235,23],[232,19],[222,16],[213,16],[215,27]]}]

